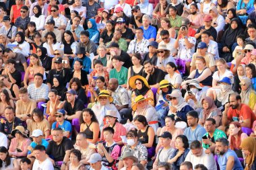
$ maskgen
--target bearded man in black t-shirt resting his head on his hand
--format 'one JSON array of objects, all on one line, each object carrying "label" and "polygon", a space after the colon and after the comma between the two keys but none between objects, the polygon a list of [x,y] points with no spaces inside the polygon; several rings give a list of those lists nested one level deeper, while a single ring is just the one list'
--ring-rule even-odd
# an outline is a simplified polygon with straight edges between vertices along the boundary
[{"label": "bearded man in black t-shirt resting his head on his hand", "polygon": [[144,71],[142,76],[146,78],[150,88],[159,88],[159,83],[164,79],[164,72],[161,69],[154,68],[154,65],[150,60],[143,62]]}]

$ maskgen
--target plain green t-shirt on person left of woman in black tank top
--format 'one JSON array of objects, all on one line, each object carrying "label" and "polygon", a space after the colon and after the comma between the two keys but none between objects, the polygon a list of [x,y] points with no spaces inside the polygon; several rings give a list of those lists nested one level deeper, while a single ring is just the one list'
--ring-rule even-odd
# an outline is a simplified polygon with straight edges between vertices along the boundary
[{"label": "plain green t-shirt on person left of woman in black tank top", "polygon": [[121,70],[117,72],[117,69],[112,69],[109,73],[109,79],[115,78],[118,80],[119,85],[125,85],[127,83],[128,69],[121,67]]}]

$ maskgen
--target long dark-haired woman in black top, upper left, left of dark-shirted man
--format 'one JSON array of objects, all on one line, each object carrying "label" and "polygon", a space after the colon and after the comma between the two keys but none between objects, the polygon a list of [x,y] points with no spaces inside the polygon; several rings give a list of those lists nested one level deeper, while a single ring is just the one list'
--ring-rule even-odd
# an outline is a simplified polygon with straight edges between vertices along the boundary
[{"label": "long dark-haired woman in black top, upper left, left of dark-shirted man", "polygon": [[76,46],[77,42],[73,38],[73,34],[71,31],[66,30],[63,34],[63,49],[64,49],[64,56],[67,58],[74,58],[75,57],[75,52],[76,52]]}]

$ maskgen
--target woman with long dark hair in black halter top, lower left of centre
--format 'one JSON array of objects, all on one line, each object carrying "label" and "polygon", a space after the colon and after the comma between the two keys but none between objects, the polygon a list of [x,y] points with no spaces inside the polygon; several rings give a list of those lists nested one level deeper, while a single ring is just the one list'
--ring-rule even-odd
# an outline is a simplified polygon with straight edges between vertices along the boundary
[{"label": "woman with long dark hair in black halter top, lower left of centre", "polygon": [[79,122],[81,124],[80,132],[86,134],[87,142],[96,144],[100,138],[100,126],[94,112],[91,109],[84,109],[79,118]]}]

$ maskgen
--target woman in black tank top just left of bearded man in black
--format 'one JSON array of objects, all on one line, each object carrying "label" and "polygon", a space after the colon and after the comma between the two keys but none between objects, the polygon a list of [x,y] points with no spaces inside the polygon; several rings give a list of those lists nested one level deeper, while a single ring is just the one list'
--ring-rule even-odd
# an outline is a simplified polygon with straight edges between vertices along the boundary
[{"label": "woman in black tank top just left of bearded man in black", "polygon": [[127,89],[129,89],[129,79],[134,75],[141,75],[143,73],[144,67],[141,65],[141,55],[139,53],[134,53],[131,56],[131,62],[133,62],[133,66],[128,69],[128,77],[127,77]]}]

